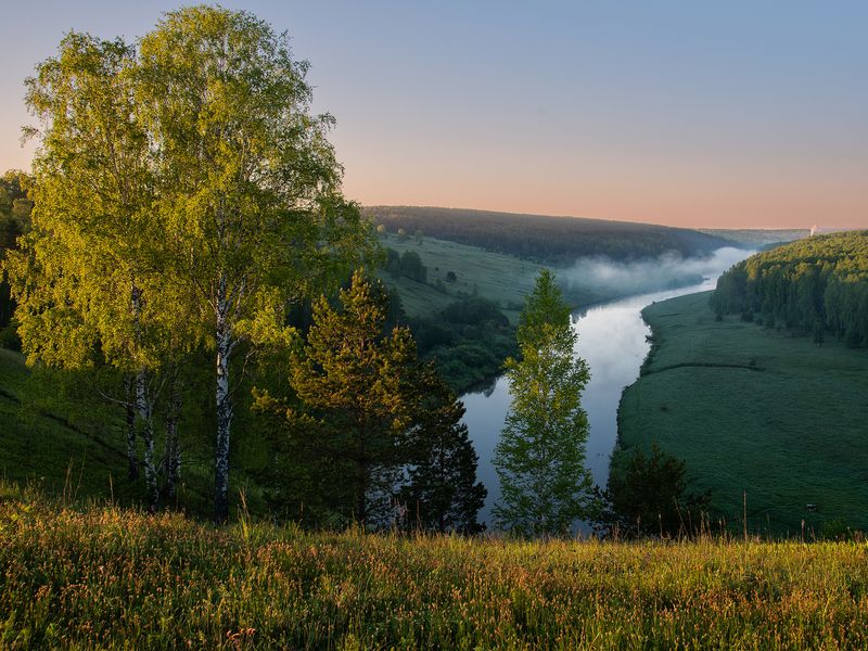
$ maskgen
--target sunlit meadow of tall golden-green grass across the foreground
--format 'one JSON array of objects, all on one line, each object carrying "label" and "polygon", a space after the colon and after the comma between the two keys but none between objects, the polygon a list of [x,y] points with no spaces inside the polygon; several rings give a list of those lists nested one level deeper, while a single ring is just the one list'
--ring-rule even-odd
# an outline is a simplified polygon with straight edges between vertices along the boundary
[{"label": "sunlit meadow of tall golden-green grass across the foreground", "polygon": [[0,640],[29,648],[868,646],[856,544],[307,534],[0,503]]}]

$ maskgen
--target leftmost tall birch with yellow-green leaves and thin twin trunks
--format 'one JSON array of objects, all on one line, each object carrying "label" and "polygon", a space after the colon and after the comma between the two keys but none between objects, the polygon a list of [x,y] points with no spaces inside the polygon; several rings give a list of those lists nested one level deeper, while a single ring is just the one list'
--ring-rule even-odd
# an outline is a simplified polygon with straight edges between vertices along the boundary
[{"label": "leftmost tall birch with yellow-green leaves and thin twin trunks", "polygon": [[127,375],[112,399],[127,413],[129,474],[138,475],[138,411],[152,506],[152,413],[157,350],[177,332],[161,308],[153,243],[154,184],[133,97],[135,50],[69,33],[27,79],[40,128],[34,161],[33,229],[10,256],[18,333],[30,363],[66,369],[107,363]]}]

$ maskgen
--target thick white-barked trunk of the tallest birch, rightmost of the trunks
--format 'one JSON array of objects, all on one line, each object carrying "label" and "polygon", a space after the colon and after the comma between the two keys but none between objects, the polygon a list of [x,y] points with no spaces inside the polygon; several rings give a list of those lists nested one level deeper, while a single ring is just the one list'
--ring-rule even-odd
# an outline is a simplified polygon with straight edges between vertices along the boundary
[{"label": "thick white-barked trunk of the tallest birch, rightmost of the trunks", "polygon": [[229,431],[232,425],[232,403],[229,395],[229,356],[232,353],[232,329],[228,323],[226,277],[220,276],[217,294],[217,454],[214,473],[214,523],[229,519]]}]

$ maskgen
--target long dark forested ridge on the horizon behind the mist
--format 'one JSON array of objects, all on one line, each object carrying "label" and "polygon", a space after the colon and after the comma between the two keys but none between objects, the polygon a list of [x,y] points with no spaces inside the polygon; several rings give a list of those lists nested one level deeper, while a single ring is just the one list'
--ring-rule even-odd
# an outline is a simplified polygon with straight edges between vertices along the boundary
[{"label": "long dark forested ridge on the horizon behind the mist", "polygon": [[674,252],[689,257],[736,245],[689,229],[604,219],[407,206],[369,206],[365,212],[388,232],[404,229],[412,235],[421,231],[552,265],[573,264],[583,256],[628,260]]}]

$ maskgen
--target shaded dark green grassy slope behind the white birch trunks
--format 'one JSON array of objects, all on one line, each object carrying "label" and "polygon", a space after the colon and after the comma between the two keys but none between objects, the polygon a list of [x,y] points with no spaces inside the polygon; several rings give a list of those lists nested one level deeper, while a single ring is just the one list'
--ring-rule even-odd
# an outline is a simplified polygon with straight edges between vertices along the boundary
[{"label": "shaded dark green grassy slope behind the white birch trunks", "polygon": [[[247,471],[256,465],[261,444],[240,410],[238,472],[233,485],[246,486],[252,507],[263,509],[261,489]],[[157,424],[159,421],[157,420]],[[67,498],[113,495],[122,505],[142,503],[143,477],[127,478],[126,430],[119,407],[95,397],[92,388],[67,378],[34,378],[24,357],[0,348],[0,477],[20,486],[35,485],[46,494]],[[182,423],[183,464],[178,503],[207,516],[212,507],[213,457],[207,423]],[[156,454],[163,446],[157,430]],[[143,444],[139,439],[139,458]]]}]

